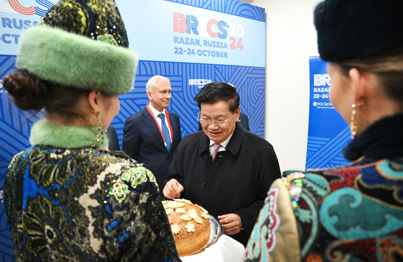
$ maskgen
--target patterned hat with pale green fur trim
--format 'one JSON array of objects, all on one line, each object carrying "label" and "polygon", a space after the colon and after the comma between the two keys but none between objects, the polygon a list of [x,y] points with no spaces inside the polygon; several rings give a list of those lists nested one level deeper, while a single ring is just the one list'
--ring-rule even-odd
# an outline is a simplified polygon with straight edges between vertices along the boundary
[{"label": "patterned hat with pale green fur trim", "polygon": [[60,0],[22,35],[16,67],[64,86],[124,94],[138,63],[128,47],[114,0]]}]

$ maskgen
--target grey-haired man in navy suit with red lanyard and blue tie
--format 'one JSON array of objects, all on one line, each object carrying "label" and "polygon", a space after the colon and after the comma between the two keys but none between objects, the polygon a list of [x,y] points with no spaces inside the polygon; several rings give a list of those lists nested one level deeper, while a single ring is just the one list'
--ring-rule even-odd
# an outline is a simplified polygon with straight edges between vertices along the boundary
[{"label": "grey-haired man in navy suit with red lanyard and blue tie", "polygon": [[[122,149],[139,163],[145,163],[158,185],[166,179],[175,150],[182,141],[177,114],[166,108],[171,100],[169,79],[153,76],[145,85],[150,99],[142,111],[126,119]],[[160,188],[162,195],[162,188]]]}]

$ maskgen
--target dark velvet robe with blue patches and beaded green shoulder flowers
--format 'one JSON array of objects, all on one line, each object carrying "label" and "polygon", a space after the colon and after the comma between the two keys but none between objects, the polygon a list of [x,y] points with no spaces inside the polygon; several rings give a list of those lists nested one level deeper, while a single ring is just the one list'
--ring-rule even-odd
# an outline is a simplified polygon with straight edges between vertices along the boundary
[{"label": "dark velvet robe with blue patches and beaded green shoulder flowers", "polygon": [[4,199],[16,261],[180,261],[154,175],[106,150],[30,147]]}]

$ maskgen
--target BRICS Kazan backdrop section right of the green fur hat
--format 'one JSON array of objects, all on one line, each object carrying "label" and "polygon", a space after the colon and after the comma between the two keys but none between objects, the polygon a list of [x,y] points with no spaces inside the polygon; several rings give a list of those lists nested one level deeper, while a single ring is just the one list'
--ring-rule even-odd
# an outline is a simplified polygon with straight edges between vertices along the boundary
[{"label": "BRICS Kazan backdrop section right of the green fur hat", "polygon": [[[198,130],[193,97],[210,82],[233,84],[251,132],[264,136],[264,9],[237,0],[116,1],[129,47],[139,54],[135,87],[120,96],[112,125],[119,141],[127,117],[149,102],[145,84],[156,74],[171,80],[168,110],[177,113],[182,137]],[[127,8],[124,8],[127,6]]]}]

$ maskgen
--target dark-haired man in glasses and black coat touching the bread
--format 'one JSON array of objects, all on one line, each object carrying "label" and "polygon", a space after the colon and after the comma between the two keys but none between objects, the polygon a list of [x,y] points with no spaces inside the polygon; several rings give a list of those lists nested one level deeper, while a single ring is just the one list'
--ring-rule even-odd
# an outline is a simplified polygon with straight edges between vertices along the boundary
[{"label": "dark-haired man in glasses and black coat touching the bread", "polygon": [[204,207],[224,234],[246,245],[272,182],[281,177],[270,143],[237,123],[235,87],[210,83],[195,96],[203,131],[179,144],[164,182],[168,199]]}]

